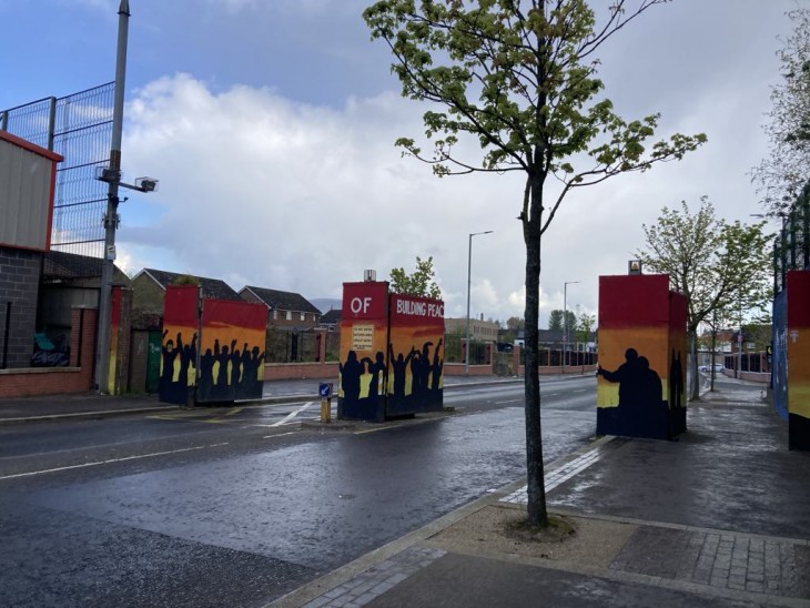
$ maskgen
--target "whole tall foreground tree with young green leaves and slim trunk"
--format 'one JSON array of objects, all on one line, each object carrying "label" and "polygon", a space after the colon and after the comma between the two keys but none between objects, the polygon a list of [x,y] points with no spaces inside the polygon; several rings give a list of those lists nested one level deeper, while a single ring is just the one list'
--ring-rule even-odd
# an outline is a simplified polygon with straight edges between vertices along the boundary
[{"label": "whole tall foreground tree with young green leaves and slim trunk", "polygon": [[[363,17],[372,39],[391,49],[402,94],[429,102],[423,115],[434,152],[401,138],[404,154],[438,176],[519,172],[518,220],[526,247],[526,468],[528,523],[548,524],[543,472],[538,315],[541,237],[565,197],[621,173],[680,159],[705,135],[648,143],[659,115],[626,122],[596,99],[599,47],[664,0],[604,3],[605,20],[585,0],[382,0]],[[483,159],[458,155],[459,135]],[[550,188],[554,185],[555,188]]]}]

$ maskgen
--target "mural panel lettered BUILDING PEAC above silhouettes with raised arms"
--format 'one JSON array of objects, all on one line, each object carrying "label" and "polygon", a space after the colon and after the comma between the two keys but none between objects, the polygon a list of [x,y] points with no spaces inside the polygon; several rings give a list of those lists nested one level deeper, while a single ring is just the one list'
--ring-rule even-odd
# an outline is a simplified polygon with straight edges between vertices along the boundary
[{"label": "mural panel lettered BUILDING PEAC above silhouettes with raised arms", "polygon": [[387,415],[441,412],[444,391],[444,303],[392,294]]}]

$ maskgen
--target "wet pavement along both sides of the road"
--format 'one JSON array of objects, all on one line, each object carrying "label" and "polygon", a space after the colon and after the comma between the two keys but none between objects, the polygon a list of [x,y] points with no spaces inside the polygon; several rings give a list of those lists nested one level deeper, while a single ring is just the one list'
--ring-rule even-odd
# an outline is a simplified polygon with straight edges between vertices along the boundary
[{"label": "wet pavement along both sides of the road", "polygon": [[[266,383],[265,399],[315,398],[318,382]],[[0,399],[0,424],[155,407],[171,406]],[[522,526],[517,479],[270,606],[810,607],[810,454],[788,450],[759,384],[705,392],[687,426],[669,442],[594,437],[546,464],[551,533]]]}]

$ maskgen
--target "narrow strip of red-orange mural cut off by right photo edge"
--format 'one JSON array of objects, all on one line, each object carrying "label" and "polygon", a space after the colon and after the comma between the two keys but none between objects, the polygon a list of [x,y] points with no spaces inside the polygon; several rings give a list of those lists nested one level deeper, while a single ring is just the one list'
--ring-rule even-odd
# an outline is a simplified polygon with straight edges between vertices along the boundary
[{"label": "narrow strip of red-orange mural cut off by right photo edge", "polygon": [[810,450],[810,271],[788,273],[790,449]]}]

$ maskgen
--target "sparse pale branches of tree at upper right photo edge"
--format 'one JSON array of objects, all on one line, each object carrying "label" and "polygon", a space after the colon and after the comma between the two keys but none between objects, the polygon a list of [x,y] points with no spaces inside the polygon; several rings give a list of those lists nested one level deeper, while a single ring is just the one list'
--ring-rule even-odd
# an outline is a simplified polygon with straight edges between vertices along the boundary
[{"label": "sparse pale branches of tree at upper right photo edge", "polygon": [[771,89],[770,122],[762,126],[769,154],[751,172],[762,205],[773,215],[784,214],[810,175],[810,9],[788,17],[796,27],[779,51],[783,80]]}]

